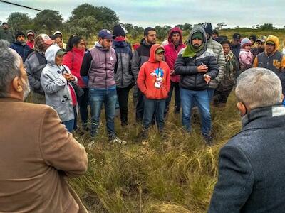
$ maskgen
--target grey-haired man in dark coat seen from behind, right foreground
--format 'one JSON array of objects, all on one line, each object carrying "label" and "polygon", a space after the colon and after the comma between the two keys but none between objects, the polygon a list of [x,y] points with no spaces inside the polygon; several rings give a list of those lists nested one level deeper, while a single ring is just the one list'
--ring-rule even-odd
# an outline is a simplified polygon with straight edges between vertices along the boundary
[{"label": "grey-haired man in dark coat seen from behind, right foreground", "polygon": [[252,68],[237,80],[242,131],[219,153],[209,213],[285,211],[285,107],[279,77]]}]

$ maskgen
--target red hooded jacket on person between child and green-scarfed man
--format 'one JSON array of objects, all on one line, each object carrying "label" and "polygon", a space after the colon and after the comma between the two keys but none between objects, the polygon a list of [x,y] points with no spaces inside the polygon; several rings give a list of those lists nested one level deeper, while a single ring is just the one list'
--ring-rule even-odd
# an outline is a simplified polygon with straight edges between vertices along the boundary
[{"label": "red hooded jacket on person between child and green-scarfed man", "polygon": [[[177,46],[177,48],[175,48],[175,45],[172,43],[173,32],[178,32],[180,34],[179,45]],[[185,48],[185,45],[183,44],[182,40],[182,31],[178,27],[172,28],[168,35],[168,45],[165,46],[165,62],[167,62],[167,65],[170,67],[170,70],[174,70],[175,60],[177,58],[179,51],[182,48]],[[170,75],[170,80],[172,82],[179,82],[180,75],[175,75],[175,74]]]}]

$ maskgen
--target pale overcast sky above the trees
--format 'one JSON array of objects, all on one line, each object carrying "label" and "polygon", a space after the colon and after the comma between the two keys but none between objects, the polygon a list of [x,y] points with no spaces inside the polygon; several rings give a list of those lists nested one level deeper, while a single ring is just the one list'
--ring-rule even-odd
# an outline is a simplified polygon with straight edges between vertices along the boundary
[{"label": "pale overcast sky above the trees", "polygon": [[[175,26],[178,23],[193,24],[205,21],[212,22],[213,26],[224,22],[231,28],[252,27],[252,25],[263,23],[273,23],[277,28],[285,26],[285,0],[17,0],[11,2],[36,9],[57,10],[65,20],[71,16],[71,11],[76,6],[83,3],[108,6],[117,13],[121,23],[132,23],[142,27]],[[12,12],[28,13],[32,18],[37,13],[37,11],[0,2],[1,21],[6,21],[9,13]]]}]

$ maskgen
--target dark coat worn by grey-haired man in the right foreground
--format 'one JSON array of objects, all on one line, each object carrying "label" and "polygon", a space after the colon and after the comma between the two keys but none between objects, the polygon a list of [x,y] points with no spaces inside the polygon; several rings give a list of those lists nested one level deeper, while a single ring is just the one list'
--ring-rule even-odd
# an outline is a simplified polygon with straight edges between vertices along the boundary
[{"label": "dark coat worn by grey-haired man in the right foreground", "polygon": [[253,109],[219,152],[209,213],[285,211],[285,107]]}]

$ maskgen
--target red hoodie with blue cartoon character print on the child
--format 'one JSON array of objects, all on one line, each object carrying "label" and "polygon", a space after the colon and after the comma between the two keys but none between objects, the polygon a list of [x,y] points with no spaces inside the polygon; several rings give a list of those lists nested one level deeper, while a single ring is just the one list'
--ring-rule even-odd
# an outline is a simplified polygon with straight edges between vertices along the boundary
[{"label": "red hoodie with blue cartoon character print on the child", "polygon": [[158,48],[163,47],[152,45],[149,60],[142,64],[138,72],[138,88],[147,99],[166,99],[170,90],[170,68],[166,62],[155,60]]}]

